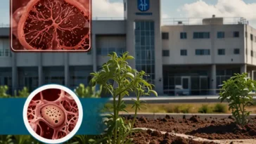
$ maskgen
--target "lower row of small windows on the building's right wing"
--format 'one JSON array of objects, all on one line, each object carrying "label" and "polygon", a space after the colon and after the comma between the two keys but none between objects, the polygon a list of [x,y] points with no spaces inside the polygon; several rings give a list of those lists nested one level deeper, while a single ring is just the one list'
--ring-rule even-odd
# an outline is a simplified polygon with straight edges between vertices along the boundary
[{"label": "lower row of small windows on the building's right wing", "polygon": [[[210,49],[196,49],[196,55],[210,55]],[[239,48],[233,49],[233,54],[238,55],[240,54]],[[186,49],[181,49],[180,55],[188,55]],[[225,49],[220,48],[218,49],[218,55],[225,55]],[[162,50],[162,56],[169,56],[169,50]]]}]

